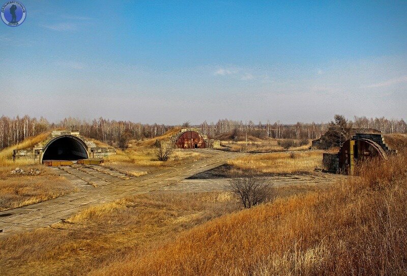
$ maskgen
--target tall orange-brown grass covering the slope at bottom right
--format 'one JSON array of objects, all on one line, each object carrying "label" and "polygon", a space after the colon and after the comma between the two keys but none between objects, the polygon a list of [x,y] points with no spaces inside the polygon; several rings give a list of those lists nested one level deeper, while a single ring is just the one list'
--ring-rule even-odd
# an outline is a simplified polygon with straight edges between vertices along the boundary
[{"label": "tall orange-brown grass covering the slope at bottom right", "polygon": [[91,275],[405,275],[407,158],[195,227]]}]

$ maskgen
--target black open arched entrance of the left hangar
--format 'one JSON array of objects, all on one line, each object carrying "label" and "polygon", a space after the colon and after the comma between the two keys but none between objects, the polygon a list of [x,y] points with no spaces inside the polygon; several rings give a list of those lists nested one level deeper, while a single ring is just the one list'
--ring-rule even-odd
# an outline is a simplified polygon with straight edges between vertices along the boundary
[{"label": "black open arched entrance of the left hangar", "polygon": [[42,160],[78,160],[89,158],[86,145],[74,136],[62,136],[51,140],[44,147]]}]

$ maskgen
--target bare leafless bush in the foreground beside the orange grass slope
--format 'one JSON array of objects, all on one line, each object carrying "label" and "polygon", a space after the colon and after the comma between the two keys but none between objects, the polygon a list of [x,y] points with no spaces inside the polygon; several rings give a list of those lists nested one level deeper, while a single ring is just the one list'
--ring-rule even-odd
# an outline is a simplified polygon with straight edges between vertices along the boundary
[{"label": "bare leafless bush in the foreground beside the orange grass slope", "polygon": [[250,208],[273,198],[270,181],[253,175],[230,179],[227,189],[240,199],[245,208]]}]

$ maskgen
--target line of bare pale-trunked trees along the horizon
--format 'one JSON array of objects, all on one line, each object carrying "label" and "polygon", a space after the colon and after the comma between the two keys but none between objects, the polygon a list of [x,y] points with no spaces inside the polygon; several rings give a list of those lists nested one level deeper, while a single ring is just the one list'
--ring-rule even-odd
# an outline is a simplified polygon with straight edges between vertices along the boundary
[{"label": "line of bare pale-trunked trees along the horizon", "polygon": [[[353,127],[375,128],[383,133],[407,133],[407,124],[403,119],[388,120],[382,118],[354,117]],[[203,134],[215,137],[228,131],[245,132],[257,137],[272,137],[276,139],[317,139],[324,134],[329,123],[301,123],[282,124],[280,121],[266,123],[253,121],[243,122],[235,120],[218,120],[216,123],[204,121],[198,125],[184,123],[183,127],[200,128]],[[164,124],[141,124],[131,121],[117,121],[104,118],[92,121],[75,118],[65,118],[58,123],[50,123],[46,118],[33,118],[28,115],[10,118],[0,117],[0,149],[17,144],[27,137],[35,136],[52,129],[78,130],[81,135],[104,141],[119,143],[122,140],[153,139],[162,135],[173,126]]]}]

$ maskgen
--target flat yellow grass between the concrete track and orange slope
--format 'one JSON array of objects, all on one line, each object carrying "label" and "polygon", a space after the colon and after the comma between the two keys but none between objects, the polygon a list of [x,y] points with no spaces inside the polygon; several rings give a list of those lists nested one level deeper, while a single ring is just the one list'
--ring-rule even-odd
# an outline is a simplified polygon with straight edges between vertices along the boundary
[{"label": "flat yellow grass between the concrete track and orange slope", "polygon": [[90,207],[52,228],[0,239],[1,274],[85,275],[238,208],[218,192],[141,195]]}]

